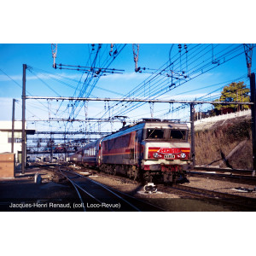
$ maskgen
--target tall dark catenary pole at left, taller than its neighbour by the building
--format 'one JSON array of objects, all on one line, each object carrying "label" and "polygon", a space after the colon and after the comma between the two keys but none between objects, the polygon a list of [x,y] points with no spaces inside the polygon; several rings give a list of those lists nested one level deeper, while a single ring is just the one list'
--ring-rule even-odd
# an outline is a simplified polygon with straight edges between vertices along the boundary
[{"label": "tall dark catenary pole at left, taller than its neighbour by the building", "polygon": [[22,145],[21,145],[21,173],[25,173],[25,156],[26,156],[26,134],[25,134],[25,102],[26,102],[26,64],[23,64],[22,79]]}]

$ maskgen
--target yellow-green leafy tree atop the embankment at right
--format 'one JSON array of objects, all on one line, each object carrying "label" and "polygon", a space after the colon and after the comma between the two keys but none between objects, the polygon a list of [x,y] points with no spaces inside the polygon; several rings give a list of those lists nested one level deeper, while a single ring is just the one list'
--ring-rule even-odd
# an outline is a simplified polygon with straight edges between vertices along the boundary
[{"label": "yellow-green leafy tree atop the embankment at right", "polygon": [[232,102],[250,102],[249,92],[250,89],[247,88],[244,82],[231,83],[224,86],[220,98],[215,100],[215,102],[230,102],[230,104],[213,104],[213,106],[218,110],[223,110],[224,108],[234,108],[236,110],[247,109],[249,108],[248,105],[232,104]]}]

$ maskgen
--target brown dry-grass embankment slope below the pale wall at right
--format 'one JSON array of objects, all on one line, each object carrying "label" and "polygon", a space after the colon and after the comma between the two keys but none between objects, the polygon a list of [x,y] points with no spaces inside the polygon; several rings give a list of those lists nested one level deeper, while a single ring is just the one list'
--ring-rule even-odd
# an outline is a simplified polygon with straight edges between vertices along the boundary
[{"label": "brown dry-grass embankment slope below the pale wall at right", "polygon": [[250,119],[230,119],[195,131],[196,166],[253,169]]}]

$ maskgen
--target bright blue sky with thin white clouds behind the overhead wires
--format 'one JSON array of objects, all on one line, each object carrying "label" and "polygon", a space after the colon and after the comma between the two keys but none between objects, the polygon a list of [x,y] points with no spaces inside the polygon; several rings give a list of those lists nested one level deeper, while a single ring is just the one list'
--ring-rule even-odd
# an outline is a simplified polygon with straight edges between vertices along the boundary
[{"label": "bright blue sky with thin white clouds behind the overhead wires", "polygon": [[[123,47],[124,44],[116,44]],[[162,65],[170,64],[171,61],[176,60],[173,70],[177,73],[182,69],[183,71],[191,69],[191,71],[196,69],[195,67],[201,67],[207,60],[210,62],[214,61],[216,58],[220,57],[224,52],[228,52],[230,49],[234,50],[234,56],[236,53],[242,52],[242,47],[239,48],[239,44],[187,44],[188,53],[185,54],[184,44],[182,45],[181,58],[178,53],[178,44],[140,44],[139,48],[139,61],[138,67],[146,67],[150,69],[158,69]],[[95,48],[97,47],[97,44]],[[197,48],[196,48],[197,47]],[[213,47],[213,49],[212,49]],[[113,47],[113,49],[115,46]],[[170,49],[172,48],[171,54]],[[193,49],[196,49],[193,52]],[[91,44],[58,44],[57,48],[57,58],[56,63],[58,64],[68,64],[68,65],[80,65],[80,66],[90,66],[89,53],[92,49]],[[100,67],[103,61],[109,57],[110,44],[102,44],[102,54],[99,55],[96,61],[96,67]],[[101,53],[100,51],[100,53]],[[79,84],[79,79],[84,80],[81,72],[66,70],[66,69],[54,69],[52,67],[53,58],[51,55],[51,45],[50,44],[0,44],[0,98],[1,98],[1,108],[4,109],[0,113],[0,119],[6,120],[11,119],[11,106],[12,98],[20,99],[21,96],[21,84],[22,84],[22,64],[26,64],[32,67],[32,72],[30,69],[26,71],[26,90],[32,96],[78,96],[78,91],[75,94],[75,88]],[[192,58],[193,61],[188,61]],[[233,56],[231,55],[231,56]],[[187,58],[187,59],[186,59]],[[163,95],[158,98],[165,99],[180,99],[180,100],[193,100],[201,96],[207,95],[207,93],[212,92],[212,99],[218,96],[221,88],[228,83],[236,81],[236,79],[241,76],[245,76],[244,80],[247,85],[247,65],[245,55],[236,56],[234,59],[227,61],[230,55],[219,59],[221,65],[210,63],[207,69],[211,69],[206,73],[201,74],[202,71],[196,71],[195,75],[198,77],[191,78],[190,81],[178,86],[174,90],[163,91]],[[186,65],[187,60],[187,65]],[[205,62],[204,62],[205,61]],[[223,63],[224,61],[227,61]],[[180,67],[180,63],[183,65]],[[165,67],[166,67],[165,66]],[[214,68],[213,68],[214,67]],[[255,67],[255,54],[253,55],[253,67]],[[252,67],[252,68],[253,68]],[[96,83],[96,87],[91,91],[90,96],[93,97],[115,97],[120,98],[125,96],[126,93],[130,92],[143,81],[147,81],[148,77],[152,75],[155,70],[145,70],[143,73],[135,73],[135,64],[133,61],[132,45],[126,44],[124,49],[119,52],[119,55],[112,62],[109,68],[123,69],[125,70],[122,74],[108,74],[107,76],[102,76],[101,79]],[[171,67],[168,67],[171,68]],[[169,69],[166,72],[170,73]],[[146,73],[146,71],[148,73]],[[56,82],[54,79],[58,79],[60,82]],[[160,76],[160,80],[155,84],[149,84],[151,90],[154,90],[157,84],[160,84],[161,79],[166,79],[166,75]],[[61,82],[70,84],[63,85]],[[177,82],[177,81],[176,81]],[[166,84],[171,84],[171,79],[166,80]],[[176,83],[178,84],[178,82]],[[216,84],[216,85],[214,85]],[[20,85],[20,86],[19,86]],[[205,88],[210,86],[209,88]],[[80,86],[80,85],[79,85]],[[147,96],[147,85],[145,85],[146,90],[144,95],[134,95],[134,96]],[[50,89],[49,89],[50,87]],[[201,89],[205,88],[205,89]],[[201,90],[200,90],[201,89]],[[214,91],[216,90],[216,91]],[[70,107],[67,107],[68,102],[63,102],[60,106],[60,102],[36,102],[32,100],[26,101],[26,117],[27,119],[48,119],[50,118],[68,118],[68,113],[71,111]],[[42,105],[44,103],[44,106]],[[71,103],[70,103],[71,104]],[[111,106],[112,103],[110,103]],[[89,118],[100,118],[104,110],[108,110],[108,104],[104,102],[90,102],[88,105],[88,117]],[[182,117],[183,119],[188,119],[189,108],[184,110],[179,110],[176,113],[169,113],[164,115],[169,111],[169,109],[176,108],[178,105],[170,106],[170,104],[154,104],[154,117],[158,118],[172,118],[178,119]],[[49,108],[52,109],[52,113],[49,113]],[[60,108],[60,109],[59,109]],[[201,109],[210,108],[209,105],[201,106]],[[16,106],[16,119],[21,118],[21,101],[18,102]],[[59,111],[57,112],[57,109]],[[113,114],[115,108],[112,109]],[[65,113],[64,113],[65,112]],[[122,113],[122,112],[121,112]],[[121,114],[119,113],[119,114]],[[77,118],[84,119],[84,108],[81,109]],[[134,111],[125,113],[131,119],[140,119],[143,117],[150,117],[150,108],[148,104],[145,104],[141,108],[137,108]],[[109,113],[106,113],[104,118],[108,118]],[[29,126],[34,124],[28,123]],[[39,125],[39,123],[37,124]],[[52,125],[54,125],[52,123]],[[44,125],[47,127],[47,125]],[[115,125],[118,129],[118,125]],[[31,127],[34,128],[34,127]],[[46,128],[47,129],[47,128]],[[103,129],[103,128],[102,128]],[[106,128],[110,129],[109,127]]]}]

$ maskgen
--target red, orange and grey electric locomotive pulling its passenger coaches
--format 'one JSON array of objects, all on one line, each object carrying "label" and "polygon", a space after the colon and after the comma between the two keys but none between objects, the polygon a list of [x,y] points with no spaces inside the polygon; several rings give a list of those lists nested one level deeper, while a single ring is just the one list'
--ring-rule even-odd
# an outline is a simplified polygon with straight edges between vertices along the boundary
[{"label": "red, orange and grey electric locomotive pulling its passenger coaches", "polygon": [[70,160],[113,175],[174,183],[191,167],[188,134],[185,124],[143,119],[79,148]]}]

